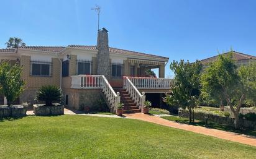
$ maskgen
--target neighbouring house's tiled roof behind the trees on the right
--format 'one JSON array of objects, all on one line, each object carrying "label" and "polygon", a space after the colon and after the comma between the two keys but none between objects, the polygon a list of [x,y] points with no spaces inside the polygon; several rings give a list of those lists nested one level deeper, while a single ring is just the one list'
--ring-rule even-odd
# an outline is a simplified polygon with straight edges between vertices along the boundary
[{"label": "neighbouring house's tiled roof behind the trees on the right", "polygon": [[[225,55],[225,54],[228,54],[228,53],[230,53],[230,52],[223,53],[223,54]],[[237,52],[237,51],[232,51],[232,53],[233,53],[233,57],[232,57],[232,58],[233,58],[235,61],[240,61],[240,60],[245,60],[245,59],[255,59],[255,60],[256,60],[256,56],[252,56],[252,55],[244,54],[244,53],[239,53],[239,52]],[[209,63],[209,62],[213,62],[213,61],[215,61],[215,60],[217,59],[217,56],[218,56],[218,55],[213,56],[213,57],[211,57],[211,58],[202,59],[201,62],[202,62],[203,64]]]}]

